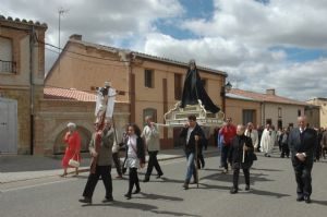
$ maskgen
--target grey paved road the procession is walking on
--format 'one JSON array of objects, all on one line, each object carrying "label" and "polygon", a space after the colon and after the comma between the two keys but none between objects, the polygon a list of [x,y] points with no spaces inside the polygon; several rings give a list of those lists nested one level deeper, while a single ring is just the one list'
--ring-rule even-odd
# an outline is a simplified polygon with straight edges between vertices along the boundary
[{"label": "grey paved road the procession is walking on", "polygon": [[[182,189],[185,160],[162,161],[165,178],[141,183],[142,194],[128,201],[123,197],[128,180],[113,180],[114,202],[102,204],[104,186],[99,182],[93,205],[77,202],[87,174],[80,178],[49,177],[0,185],[0,216],[326,216],[327,160],[313,169],[313,203],[295,201],[295,182],[289,159],[259,156],[251,171],[252,190],[231,195],[231,174],[221,174],[219,157],[206,158],[199,170],[201,184]],[[143,179],[141,170],[140,178]],[[116,172],[112,171],[114,177]],[[240,188],[244,189],[243,177]]]}]

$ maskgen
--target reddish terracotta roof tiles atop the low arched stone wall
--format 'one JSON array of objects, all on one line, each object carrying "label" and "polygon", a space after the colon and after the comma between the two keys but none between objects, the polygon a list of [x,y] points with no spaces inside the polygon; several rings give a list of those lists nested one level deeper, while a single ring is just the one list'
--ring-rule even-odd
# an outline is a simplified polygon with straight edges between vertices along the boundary
[{"label": "reddish terracotta roof tiles atop the low arched stone wall", "polygon": [[45,99],[60,99],[73,101],[96,101],[96,95],[76,89],[66,89],[59,87],[45,87]]}]

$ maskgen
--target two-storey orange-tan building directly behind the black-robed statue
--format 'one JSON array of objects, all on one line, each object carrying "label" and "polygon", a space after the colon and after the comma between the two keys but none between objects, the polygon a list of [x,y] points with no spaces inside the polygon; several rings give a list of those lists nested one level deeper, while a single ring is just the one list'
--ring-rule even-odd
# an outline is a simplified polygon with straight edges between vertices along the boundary
[{"label": "two-storey orange-tan building directly behind the black-robed statue", "polygon": [[[46,85],[89,91],[110,81],[120,91],[118,100],[130,105],[130,120],[143,126],[152,114],[164,123],[164,114],[181,99],[187,63],[124,49],[100,46],[71,36],[63,52],[46,76]],[[198,67],[204,86],[221,107],[221,86],[227,74]],[[160,128],[161,147],[173,146],[173,129]]]}]

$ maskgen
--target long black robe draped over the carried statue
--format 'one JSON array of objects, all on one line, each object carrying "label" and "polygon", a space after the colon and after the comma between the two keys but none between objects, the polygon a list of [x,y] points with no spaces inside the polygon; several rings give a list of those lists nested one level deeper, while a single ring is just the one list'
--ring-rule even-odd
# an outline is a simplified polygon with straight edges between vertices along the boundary
[{"label": "long black robe draped over the carried statue", "polygon": [[193,70],[190,68],[186,72],[181,108],[184,108],[186,105],[197,105],[197,99],[201,99],[205,109],[213,113],[217,113],[220,110],[208,96],[195,67]]}]

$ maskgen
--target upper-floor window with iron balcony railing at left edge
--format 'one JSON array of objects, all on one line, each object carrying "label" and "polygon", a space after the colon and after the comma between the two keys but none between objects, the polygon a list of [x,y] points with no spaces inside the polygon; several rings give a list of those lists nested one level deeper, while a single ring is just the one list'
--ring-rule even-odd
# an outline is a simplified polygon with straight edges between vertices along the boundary
[{"label": "upper-floor window with iron balcony railing at left edge", "polygon": [[15,73],[16,64],[12,61],[12,41],[0,37],[0,73]]}]

